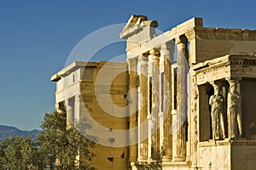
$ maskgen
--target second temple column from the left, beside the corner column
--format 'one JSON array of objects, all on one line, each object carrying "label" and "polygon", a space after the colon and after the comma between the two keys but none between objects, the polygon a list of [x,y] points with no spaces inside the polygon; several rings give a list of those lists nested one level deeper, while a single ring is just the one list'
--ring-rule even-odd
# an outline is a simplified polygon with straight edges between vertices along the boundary
[{"label": "second temple column from the left, beside the corner column", "polygon": [[138,161],[148,160],[148,56],[139,58],[140,73],[140,108],[139,108],[139,157]]}]

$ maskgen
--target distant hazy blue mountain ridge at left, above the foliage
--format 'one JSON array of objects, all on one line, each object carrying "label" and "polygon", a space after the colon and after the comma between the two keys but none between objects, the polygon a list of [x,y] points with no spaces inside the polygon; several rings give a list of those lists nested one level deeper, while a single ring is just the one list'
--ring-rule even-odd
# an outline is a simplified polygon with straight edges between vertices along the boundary
[{"label": "distant hazy blue mountain ridge at left, above the foliage", "polygon": [[11,137],[13,135],[25,136],[25,137],[27,137],[29,135],[32,139],[35,139],[35,138],[37,138],[38,133],[40,133],[39,130],[22,131],[22,130],[18,129],[17,127],[9,127],[9,126],[0,125],[0,140],[5,139],[8,136]]}]

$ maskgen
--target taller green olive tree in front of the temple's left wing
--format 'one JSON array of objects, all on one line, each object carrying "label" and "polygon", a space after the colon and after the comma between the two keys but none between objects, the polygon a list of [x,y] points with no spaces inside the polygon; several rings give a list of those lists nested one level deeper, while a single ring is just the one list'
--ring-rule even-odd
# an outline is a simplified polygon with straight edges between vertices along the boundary
[{"label": "taller green olive tree in front of the temple's left wing", "polygon": [[[54,111],[45,114],[42,133],[38,135],[39,151],[44,156],[44,167],[49,169],[94,169],[90,167],[95,143],[74,127],[66,127],[66,114]],[[87,123],[77,123],[88,128]],[[84,126],[83,126],[84,124]],[[83,159],[77,159],[83,156]],[[79,166],[78,166],[79,165]]]}]

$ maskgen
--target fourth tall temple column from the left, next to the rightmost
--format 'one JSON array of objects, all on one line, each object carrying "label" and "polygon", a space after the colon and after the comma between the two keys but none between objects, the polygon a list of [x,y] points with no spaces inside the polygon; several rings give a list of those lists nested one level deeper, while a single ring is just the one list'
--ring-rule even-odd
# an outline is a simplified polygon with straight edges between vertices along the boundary
[{"label": "fourth tall temple column from the left, next to the rightmost", "polygon": [[171,65],[174,59],[174,42],[166,42],[161,46],[160,57],[164,58],[164,143],[163,143],[163,161],[172,161],[172,69]]}]

